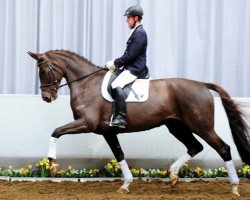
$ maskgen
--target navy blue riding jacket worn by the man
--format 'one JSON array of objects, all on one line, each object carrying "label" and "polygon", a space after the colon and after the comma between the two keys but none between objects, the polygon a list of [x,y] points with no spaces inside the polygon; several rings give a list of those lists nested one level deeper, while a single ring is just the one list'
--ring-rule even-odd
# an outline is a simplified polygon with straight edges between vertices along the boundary
[{"label": "navy blue riding jacket worn by the man", "polygon": [[147,45],[148,39],[142,25],[136,27],[132,35],[127,41],[127,48],[120,58],[115,59],[116,67],[124,67],[130,71],[131,74],[145,78],[148,74],[147,62]]}]

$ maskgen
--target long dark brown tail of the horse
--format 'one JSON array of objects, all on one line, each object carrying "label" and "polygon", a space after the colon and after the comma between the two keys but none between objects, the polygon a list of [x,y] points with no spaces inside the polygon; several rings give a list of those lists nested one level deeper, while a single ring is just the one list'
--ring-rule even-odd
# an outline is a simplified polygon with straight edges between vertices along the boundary
[{"label": "long dark brown tail of the horse", "polygon": [[244,120],[244,113],[240,110],[239,105],[231,99],[229,94],[220,86],[212,84],[212,83],[205,83],[208,89],[216,91],[222,101],[222,105],[226,111],[229,126],[232,131],[234,143],[238,149],[240,154],[241,160],[246,163],[250,164],[250,135],[248,135],[249,127]]}]

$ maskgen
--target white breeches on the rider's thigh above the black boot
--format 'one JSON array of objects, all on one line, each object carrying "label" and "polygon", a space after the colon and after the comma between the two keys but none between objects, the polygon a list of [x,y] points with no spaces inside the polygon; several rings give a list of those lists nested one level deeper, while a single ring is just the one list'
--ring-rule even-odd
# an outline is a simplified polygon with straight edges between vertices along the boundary
[{"label": "white breeches on the rider's thigh above the black boot", "polygon": [[129,70],[124,70],[112,83],[111,87],[112,89],[115,89],[117,87],[123,88],[125,85],[132,83],[135,79],[137,79],[137,76],[130,73]]}]

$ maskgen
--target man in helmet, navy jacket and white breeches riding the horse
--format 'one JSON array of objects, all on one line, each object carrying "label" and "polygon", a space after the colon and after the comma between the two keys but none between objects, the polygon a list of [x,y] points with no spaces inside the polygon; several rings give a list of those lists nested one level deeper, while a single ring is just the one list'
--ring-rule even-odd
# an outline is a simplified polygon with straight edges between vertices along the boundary
[{"label": "man in helmet, navy jacket and white breeches riding the horse", "polygon": [[145,78],[148,75],[146,66],[147,34],[141,24],[143,10],[140,6],[129,7],[124,16],[131,29],[130,37],[127,41],[127,47],[124,54],[107,62],[106,66],[122,69],[121,74],[112,82],[113,96],[115,101],[115,113],[110,123],[111,126],[125,128],[126,122],[126,104],[122,88],[135,81],[137,78]]}]

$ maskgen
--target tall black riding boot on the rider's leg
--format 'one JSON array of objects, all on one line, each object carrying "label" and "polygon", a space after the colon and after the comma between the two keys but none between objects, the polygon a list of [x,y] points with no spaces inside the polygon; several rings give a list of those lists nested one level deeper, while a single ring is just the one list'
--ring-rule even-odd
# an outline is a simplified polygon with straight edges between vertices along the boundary
[{"label": "tall black riding boot on the rider's leg", "polygon": [[113,97],[115,100],[115,114],[113,116],[111,126],[125,128],[126,122],[126,102],[124,92],[121,87],[113,89]]}]

